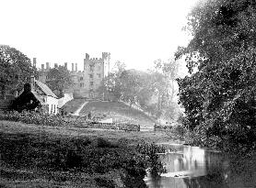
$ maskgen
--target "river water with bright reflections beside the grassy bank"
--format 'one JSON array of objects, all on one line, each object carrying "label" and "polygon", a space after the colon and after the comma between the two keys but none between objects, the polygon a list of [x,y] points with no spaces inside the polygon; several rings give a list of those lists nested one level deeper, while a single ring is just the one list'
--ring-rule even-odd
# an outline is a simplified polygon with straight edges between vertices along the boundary
[{"label": "river water with bright reflections beside the grassy bank", "polygon": [[256,158],[244,159],[201,149],[170,145],[175,152],[160,155],[166,173],[147,174],[149,188],[256,188]]}]

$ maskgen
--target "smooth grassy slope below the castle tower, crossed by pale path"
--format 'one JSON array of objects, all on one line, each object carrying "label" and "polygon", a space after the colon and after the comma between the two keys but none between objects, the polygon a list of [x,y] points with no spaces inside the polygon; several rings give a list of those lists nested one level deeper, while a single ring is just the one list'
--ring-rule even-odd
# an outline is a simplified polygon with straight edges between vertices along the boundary
[{"label": "smooth grassy slope below the castle tower, crossed by pale path", "polygon": [[[68,113],[73,113],[81,104],[83,104],[83,101],[75,99],[64,105],[64,109]],[[88,101],[79,115],[87,116],[89,112],[92,116],[104,115],[104,119],[112,118],[117,123],[139,124],[142,129],[153,129],[155,124],[154,119],[150,116],[122,102]]]}]

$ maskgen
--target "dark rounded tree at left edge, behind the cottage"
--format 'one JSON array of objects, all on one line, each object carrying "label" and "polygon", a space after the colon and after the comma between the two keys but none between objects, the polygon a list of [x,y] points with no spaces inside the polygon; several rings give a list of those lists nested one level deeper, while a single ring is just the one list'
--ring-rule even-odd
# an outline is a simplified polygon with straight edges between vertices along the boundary
[{"label": "dark rounded tree at left edge, behind the cottage", "polygon": [[0,45],[0,87],[2,97],[24,83],[29,82],[31,75],[36,76],[29,58],[19,50],[7,45]]}]

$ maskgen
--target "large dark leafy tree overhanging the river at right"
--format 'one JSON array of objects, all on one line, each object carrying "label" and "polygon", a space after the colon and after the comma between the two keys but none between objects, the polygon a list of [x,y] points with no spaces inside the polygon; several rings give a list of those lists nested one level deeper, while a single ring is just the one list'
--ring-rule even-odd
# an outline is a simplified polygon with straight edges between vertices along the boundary
[{"label": "large dark leafy tree overhanging the river at right", "polygon": [[[179,80],[180,103],[199,142],[253,146],[256,130],[256,3],[205,0],[192,9],[192,40],[179,48],[192,73]],[[195,69],[196,68],[196,69]],[[222,142],[218,142],[222,143]]]}]

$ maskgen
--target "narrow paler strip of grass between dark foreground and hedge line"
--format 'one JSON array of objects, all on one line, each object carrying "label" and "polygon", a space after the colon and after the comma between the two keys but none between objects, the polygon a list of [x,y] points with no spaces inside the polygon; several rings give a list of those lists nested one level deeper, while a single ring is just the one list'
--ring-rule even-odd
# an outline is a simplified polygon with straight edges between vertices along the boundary
[{"label": "narrow paler strip of grass between dark foreground and hedge line", "polygon": [[19,122],[0,121],[0,132],[6,133],[28,133],[38,135],[52,135],[52,137],[83,137],[87,138],[107,138],[111,141],[127,139],[127,142],[133,144],[140,140],[148,142],[167,142],[172,139],[165,132],[140,131],[124,132],[119,130],[91,129],[80,127],[50,127],[33,124],[23,124]]}]

